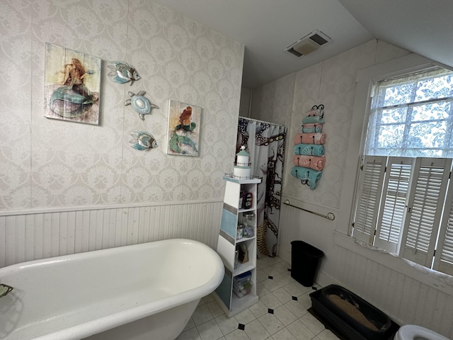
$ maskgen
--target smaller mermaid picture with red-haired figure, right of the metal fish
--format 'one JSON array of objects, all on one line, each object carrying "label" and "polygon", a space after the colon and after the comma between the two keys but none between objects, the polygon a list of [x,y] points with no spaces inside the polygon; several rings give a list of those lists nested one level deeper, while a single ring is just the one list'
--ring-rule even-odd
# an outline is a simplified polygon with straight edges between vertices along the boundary
[{"label": "smaller mermaid picture with red-haired figure, right of the metal fish", "polygon": [[200,106],[180,101],[168,103],[167,154],[198,156],[201,111]]}]

